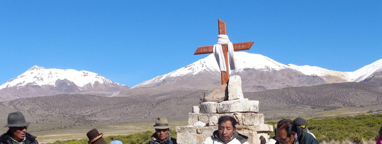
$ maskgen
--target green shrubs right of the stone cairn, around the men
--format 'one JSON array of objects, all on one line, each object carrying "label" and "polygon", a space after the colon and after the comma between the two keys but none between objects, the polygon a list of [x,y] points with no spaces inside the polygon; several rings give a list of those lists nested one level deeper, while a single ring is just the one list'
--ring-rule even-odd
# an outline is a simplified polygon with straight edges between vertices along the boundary
[{"label": "green shrubs right of the stone cairn, around the men", "polygon": [[[267,124],[274,125],[278,121],[269,121]],[[308,129],[313,133],[318,142],[325,141],[354,141],[361,143],[363,140],[375,141],[382,125],[382,114],[357,115],[324,119],[306,120]],[[275,133],[270,133],[274,136]]]}]

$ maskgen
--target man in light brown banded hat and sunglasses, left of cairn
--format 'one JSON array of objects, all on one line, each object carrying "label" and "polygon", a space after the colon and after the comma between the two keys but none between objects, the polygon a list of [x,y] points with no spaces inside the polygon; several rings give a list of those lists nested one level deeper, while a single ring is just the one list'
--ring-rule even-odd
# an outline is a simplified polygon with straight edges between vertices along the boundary
[{"label": "man in light brown banded hat and sunglasses, left of cairn", "polygon": [[176,139],[171,138],[171,134],[168,133],[171,126],[168,125],[167,118],[157,118],[152,127],[155,128],[155,133],[147,144],[176,144]]}]

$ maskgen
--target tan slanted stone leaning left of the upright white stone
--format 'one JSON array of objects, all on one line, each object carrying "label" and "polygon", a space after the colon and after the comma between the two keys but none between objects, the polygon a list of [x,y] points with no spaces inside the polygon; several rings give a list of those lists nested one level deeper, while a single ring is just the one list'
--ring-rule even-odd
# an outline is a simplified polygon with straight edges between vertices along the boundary
[{"label": "tan slanted stone leaning left of the upright white stone", "polygon": [[223,84],[203,97],[203,102],[222,102],[228,99],[227,84]]}]

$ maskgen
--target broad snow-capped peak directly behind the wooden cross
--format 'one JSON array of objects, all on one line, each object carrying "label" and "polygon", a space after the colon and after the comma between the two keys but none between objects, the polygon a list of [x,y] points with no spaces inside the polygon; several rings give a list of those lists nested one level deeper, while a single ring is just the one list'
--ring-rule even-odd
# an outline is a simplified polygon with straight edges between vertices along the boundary
[{"label": "broad snow-capped peak directly behind the wooden cross", "polygon": [[[306,76],[290,66],[263,55],[235,52],[235,58],[236,69],[231,70],[230,75],[240,75],[243,89],[246,91],[326,83],[318,76]],[[162,89],[178,87],[208,90],[219,86],[219,81],[220,70],[214,55],[210,54],[183,68],[139,83],[131,89],[165,86]]]}]

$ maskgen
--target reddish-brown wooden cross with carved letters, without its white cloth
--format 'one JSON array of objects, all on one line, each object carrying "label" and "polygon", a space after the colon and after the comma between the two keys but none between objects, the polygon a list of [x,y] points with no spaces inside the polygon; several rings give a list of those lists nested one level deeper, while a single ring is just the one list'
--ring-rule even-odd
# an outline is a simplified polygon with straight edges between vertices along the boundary
[{"label": "reddish-brown wooden cross with carved letters, without its white cloth", "polygon": [[[219,34],[227,34],[227,27],[224,23],[224,21],[218,19],[218,26],[219,26]],[[249,50],[251,49],[251,46],[254,42],[241,42],[241,43],[234,43],[233,44],[233,50]],[[227,44],[222,45],[223,49],[223,55],[225,60],[225,67],[227,67],[226,71],[221,71],[222,76],[222,85],[228,83],[228,79],[230,78],[230,72],[228,68],[228,48]],[[214,45],[209,46],[203,46],[203,47],[197,47],[194,55],[200,55],[200,54],[206,54],[206,53],[213,53]]]}]

